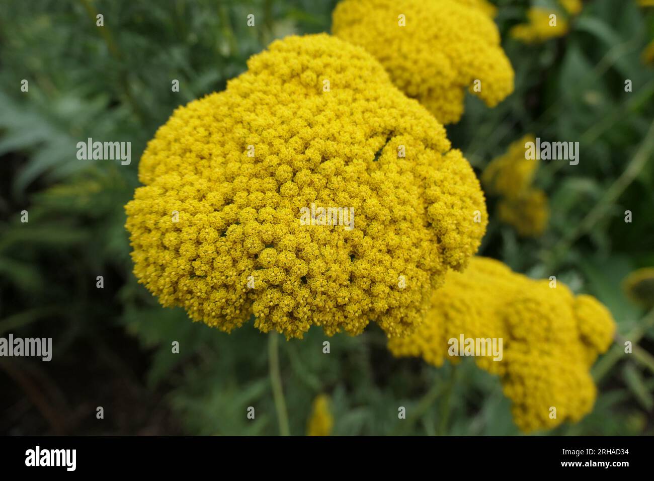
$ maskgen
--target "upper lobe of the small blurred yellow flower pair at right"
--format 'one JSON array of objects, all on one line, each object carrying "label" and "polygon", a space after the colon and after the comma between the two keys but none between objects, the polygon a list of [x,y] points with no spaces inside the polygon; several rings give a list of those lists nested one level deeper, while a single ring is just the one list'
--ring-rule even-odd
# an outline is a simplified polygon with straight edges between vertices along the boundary
[{"label": "upper lobe of the small blurred yellow flower pair at right", "polygon": [[496,196],[518,198],[530,188],[538,160],[526,158],[525,144],[536,143],[533,134],[527,134],[511,143],[506,154],[494,158],[481,174],[481,183],[486,192]]}]

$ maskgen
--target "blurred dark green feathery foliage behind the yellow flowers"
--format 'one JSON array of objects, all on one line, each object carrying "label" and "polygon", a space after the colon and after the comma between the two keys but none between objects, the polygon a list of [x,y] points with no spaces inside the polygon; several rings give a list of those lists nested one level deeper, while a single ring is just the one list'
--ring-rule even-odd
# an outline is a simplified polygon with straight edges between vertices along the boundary
[{"label": "blurred dark green feathery foliage behind the yellow flowers", "polygon": [[[642,334],[638,355],[617,347],[598,361],[592,414],[541,434],[652,435],[654,315],[631,302],[622,283],[654,266],[654,70],[642,58],[654,8],[586,1],[568,35],[525,45],[508,31],[525,21],[530,2],[495,3],[516,89],[495,109],[468,96],[462,120],[447,127],[453,145],[478,174],[528,132],[579,141],[581,156],[578,166],[545,162],[538,171],[551,210],[539,238],[497,223],[489,198],[480,254],[528,276],[554,274],[604,302],[622,336]],[[54,346],[50,363],[0,359],[0,434],[279,433],[268,336],[251,322],[224,334],[160,307],[131,274],[123,206],[139,185],[146,142],[175,107],[224,89],[275,38],[330,31],[334,5],[0,3],[0,336],[52,337]],[[104,27],[95,26],[97,13]],[[173,79],[179,92],[171,92]],[[131,141],[131,165],[77,160],[77,142],[87,137]],[[20,222],[23,210],[29,223]],[[96,276],[104,276],[103,289]],[[324,340],[319,329],[304,340],[279,339],[294,435],[306,432],[319,393],[331,397],[334,435],[519,434],[499,380],[472,362],[436,369],[394,359],[373,325],[356,338],[329,339],[328,355]],[[96,419],[97,406],[104,419]],[[254,420],[247,406],[256,408]],[[407,419],[398,419],[398,406]]]}]

